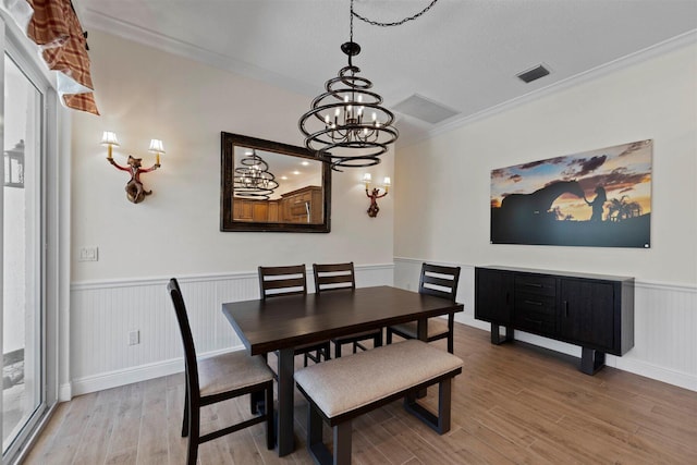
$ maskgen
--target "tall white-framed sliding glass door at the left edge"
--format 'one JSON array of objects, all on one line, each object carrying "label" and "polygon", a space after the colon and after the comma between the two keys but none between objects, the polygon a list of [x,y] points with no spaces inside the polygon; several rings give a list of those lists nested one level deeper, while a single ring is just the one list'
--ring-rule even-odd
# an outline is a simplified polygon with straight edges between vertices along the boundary
[{"label": "tall white-framed sliding glass door at the left edge", "polygon": [[[58,256],[57,250],[48,245],[57,228],[49,223],[46,203],[54,196],[53,192],[48,194],[49,184],[56,184],[48,182],[50,171],[57,169],[47,156],[54,147],[48,135],[56,137],[56,112],[48,110],[54,108],[51,101],[56,101],[56,94],[40,71],[36,49],[22,45],[26,38],[13,27],[3,16],[2,463],[21,457],[27,440],[56,403],[58,365],[56,357],[46,356],[57,353],[58,304],[47,298],[47,290],[57,289],[51,282],[56,278],[47,278],[56,274],[49,273],[48,267],[54,266],[51,257]],[[50,350],[49,341],[53,344]]]}]

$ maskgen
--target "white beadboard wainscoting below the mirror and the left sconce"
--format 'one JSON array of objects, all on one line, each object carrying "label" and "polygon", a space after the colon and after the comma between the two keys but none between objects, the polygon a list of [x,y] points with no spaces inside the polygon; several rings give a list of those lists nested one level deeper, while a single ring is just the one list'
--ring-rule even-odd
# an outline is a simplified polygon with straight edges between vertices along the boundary
[{"label": "white beadboard wainscoting below the mirror and the left sconce", "polygon": [[[356,266],[356,285],[392,285],[393,265]],[[308,292],[314,292],[311,268]],[[221,313],[224,302],[259,297],[256,272],[178,277],[199,355],[243,345]],[[103,281],[71,285],[71,386],[80,395],[184,369],[176,318],[167,293],[169,279]],[[129,333],[139,343],[129,345]],[[65,400],[65,399],[62,399]]]}]

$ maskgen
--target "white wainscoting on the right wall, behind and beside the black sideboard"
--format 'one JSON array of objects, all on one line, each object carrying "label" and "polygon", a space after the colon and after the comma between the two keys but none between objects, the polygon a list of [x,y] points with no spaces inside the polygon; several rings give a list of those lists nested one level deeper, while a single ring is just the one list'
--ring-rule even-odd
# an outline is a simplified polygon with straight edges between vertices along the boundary
[{"label": "white wainscoting on the right wall, behind and beside the black sideboard", "polygon": [[[427,260],[394,258],[394,285],[415,290],[421,264]],[[465,306],[455,320],[489,331],[490,325],[474,318],[475,267],[462,267],[457,302]],[[622,357],[608,355],[606,365],[697,391],[697,286],[635,281],[634,348]],[[515,339],[580,357],[580,347],[539,335],[515,332]]]}]

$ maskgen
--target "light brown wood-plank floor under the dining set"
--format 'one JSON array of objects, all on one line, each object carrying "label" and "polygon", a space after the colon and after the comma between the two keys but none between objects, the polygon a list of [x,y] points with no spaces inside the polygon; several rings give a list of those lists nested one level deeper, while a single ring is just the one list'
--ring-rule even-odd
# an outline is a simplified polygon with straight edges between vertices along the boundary
[{"label": "light brown wood-plank floor under the dining set", "polygon": [[[696,392],[608,367],[586,376],[567,357],[518,342],[494,346],[488,332],[455,327],[465,364],[453,382],[451,431],[438,436],[394,402],[354,420],[355,463],[697,464]],[[59,405],[25,463],[183,464],[183,383],[175,375]],[[293,454],[267,451],[257,425],[203,444],[199,463],[311,463],[307,404],[295,399]],[[248,415],[246,397],[218,405],[205,413],[204,431]]]}]

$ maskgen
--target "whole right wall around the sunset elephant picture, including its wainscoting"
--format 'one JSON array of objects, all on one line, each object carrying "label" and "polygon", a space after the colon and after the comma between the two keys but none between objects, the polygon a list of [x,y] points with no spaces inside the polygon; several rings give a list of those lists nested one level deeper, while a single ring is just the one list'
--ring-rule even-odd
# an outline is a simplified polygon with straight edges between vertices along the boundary
[{"label": "whole right wall around the sunset elephant picture, including its wainscoting", "polygon": [[[650,249],[489,243],[492,169],[649,138]],[[636,345],[625,368],[697,389],[697,45],[399,148],[395,178],[396,284],[414,260],[633,276]]]}]

